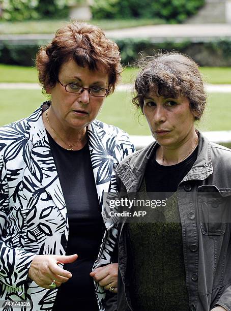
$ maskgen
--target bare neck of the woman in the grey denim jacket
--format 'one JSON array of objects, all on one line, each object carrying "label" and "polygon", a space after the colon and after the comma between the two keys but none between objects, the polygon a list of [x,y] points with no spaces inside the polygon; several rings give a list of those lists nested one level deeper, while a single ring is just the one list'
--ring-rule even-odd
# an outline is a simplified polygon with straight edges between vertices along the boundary
[{"label": "bare neck of the woman in the grey denim jacket", "polygon": [[159,146],[156,152],[156,161],[161,165],[175,165],[189,157],[198,144],[198,135],[195,130],[178,146]]}]

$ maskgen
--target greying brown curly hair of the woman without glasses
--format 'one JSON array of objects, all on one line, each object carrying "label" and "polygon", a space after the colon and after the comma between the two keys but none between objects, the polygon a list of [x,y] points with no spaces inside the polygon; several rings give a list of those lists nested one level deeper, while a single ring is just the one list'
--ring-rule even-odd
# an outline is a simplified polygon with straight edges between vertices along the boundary
[{"label": "greying brown curly hair of the woman without glasses", "polygon": [[141,68],[135,80],[132,102],[143,113],[143,100],[150,91],[157,96],[177,98],[184,96],[195,112],[195,120],[203,115],[207,102],[203,79],[198,65],[189,56],[171,52],[158,53],[138,61]]}]

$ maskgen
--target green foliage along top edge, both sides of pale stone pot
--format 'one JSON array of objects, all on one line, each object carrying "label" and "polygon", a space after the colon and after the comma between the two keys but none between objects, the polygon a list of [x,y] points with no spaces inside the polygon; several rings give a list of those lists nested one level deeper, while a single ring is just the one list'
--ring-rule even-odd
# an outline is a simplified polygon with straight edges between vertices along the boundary
[{"label": "green foliage along top edge, both sides of pale stone pot", "polygon": [[[67,18],[68,6],[84,0],[0,0],[2,20]],[[154,18],[181,23],[205,4],[205,0],[94,0],[93,18]]]}]

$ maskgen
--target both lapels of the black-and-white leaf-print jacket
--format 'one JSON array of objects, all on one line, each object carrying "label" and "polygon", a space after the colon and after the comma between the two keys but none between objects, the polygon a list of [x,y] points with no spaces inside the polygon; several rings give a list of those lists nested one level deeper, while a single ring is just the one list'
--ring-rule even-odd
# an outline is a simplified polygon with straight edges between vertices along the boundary
[{"label": "both lapels of the black-and-white leaf-print jacket", "polygon": [[[25,120],[25,136],[31,142],[31,171],[39,179],[45,190],[52,197],[55,205],[60,209],[63,217],[67,219],[66,204],[59,177],[50,150],[46,130],[43,124],[42,112],[44,102],[30,117]],[[110,179],[113,170],[112,153],[108,153],[105,146],[108,135],[100,126],[100,122],[92,122],[88,127],[90,157],[96,183],[99,204],[103,212],[103,193],[109,191]],[[111,153],[111,154],[110,154]],[[106,172],[106,173],[105,173]]]}]

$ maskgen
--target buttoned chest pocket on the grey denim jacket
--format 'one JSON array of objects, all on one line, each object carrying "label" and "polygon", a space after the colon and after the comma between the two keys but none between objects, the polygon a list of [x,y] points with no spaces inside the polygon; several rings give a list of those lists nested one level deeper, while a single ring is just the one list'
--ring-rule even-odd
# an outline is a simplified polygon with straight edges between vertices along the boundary
[{"label": "buttoned chest pocket on the grey denim jacket", "polygon": [[223,235],[230,222],[231,189],[202,185],[197,190],[199,225],[203,234]]}]

